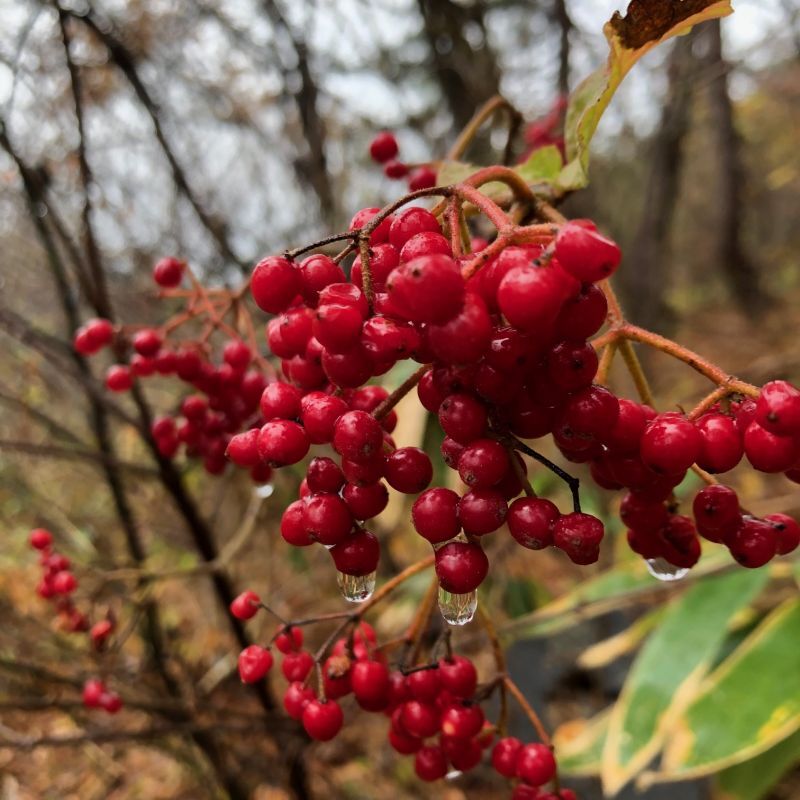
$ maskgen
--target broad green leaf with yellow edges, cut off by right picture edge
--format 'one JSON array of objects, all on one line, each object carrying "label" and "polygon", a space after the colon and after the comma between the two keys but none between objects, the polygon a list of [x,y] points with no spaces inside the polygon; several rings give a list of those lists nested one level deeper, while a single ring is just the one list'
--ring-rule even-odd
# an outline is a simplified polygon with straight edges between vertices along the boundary
[{"label": "broad green leaf with yellow edges, cut off by right picture edge", "polygon": [[800,730],[800,599],[775,609],[675,720],[658,780],[709,775]]}]

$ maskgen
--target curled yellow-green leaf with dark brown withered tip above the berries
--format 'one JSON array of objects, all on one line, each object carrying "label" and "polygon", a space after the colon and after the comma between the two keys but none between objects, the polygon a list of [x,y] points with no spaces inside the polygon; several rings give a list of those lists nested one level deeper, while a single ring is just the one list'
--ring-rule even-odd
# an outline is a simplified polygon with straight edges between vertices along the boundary
[{"label": "curled yellow-green leaf with dark brown withered tip above the berries", "polygon": [[624,17],[614,14],[603,28],[610,49],[607,63],[580,83],[569,99],[564,126],[567,164],[558,177],[562,190],[588,183],[589,145],[631,67],[656,45],[732,11],[730,0],[633,0]]}]

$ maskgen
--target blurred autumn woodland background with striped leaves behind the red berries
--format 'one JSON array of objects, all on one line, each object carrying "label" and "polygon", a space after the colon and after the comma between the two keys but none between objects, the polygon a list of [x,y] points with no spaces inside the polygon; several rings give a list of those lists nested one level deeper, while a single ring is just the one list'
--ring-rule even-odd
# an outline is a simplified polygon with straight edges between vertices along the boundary
[{"label": "blurred autumn woodland background with striped leaves behind the red berries", "polygon": [[[618,283],[634,321],[753,382],[797,382],[800,4],[735,5],[734,17],[637,67],[595,141],[590,187],[564,210],[623,245]],[[339,607],[327,558],[288,554],[277,536],[300,474],[279,476],[262,502],[240,475],[210,478],[188,464],[165,472],[130,424],[141,409],[98,393],[65,342],[104,304],[123,323],[158,323],[149,272],[163,254],[212,283],[235,282],[256,258],[402,193],[368,161],[376,130],[395,130],[405,157],[425,162],[498,91],[529,122],[546,116],[605,58],[602,23],[615,7],[0,0],[3,797],[507,795],[489,770],[420,786],[385,746],[385,723],[363,715],[311,749],[272,712],[265,726],[236,680],[237,634],[219,601],[225,585],[252,585],[295,618]],[[468,157],[491,163],[505,138],[499,122]],[[685,367],[642,355],[662,408],[702,395]],[[622,373],[612,382],[633,391]],[[146,402],[164,411],[179,398],[155,381]],[[397,442],[435,449],[438,426],[415,402],[400,409]],[[549,474],[532,474],[538,492],[565,499]],[[800,511],[781,477],[731,481],[754,513]],[[614,502],[585,498],[614,534],[599,565],[520,553],[499,533],[482,590],[515,679],[556,728],[566,771],[587,798],[604,796],[599,777],[606,794],[633,781],[654,800],[800,797],[796,565],[734,572],[709,546],[690,578],[658,584],[627,553]],[[37,524],[57,532],[94,600],[131,625],[114,660],[127,691],[119,718],[87,718],[76,702],[96,667],[34,596],[26,534]],[[401,498],[378,530],[385,574],[425,553]],[[244,545],[210,580],[202,562],[231,541]],[[170,575],[104,577],[132,566]],[[426,583],[376,610],[381,635],[408,624]],[[141,618],[157,618],[168,680],[137,632]],[[253,625],[256,640],[269,632]],[[491,674],[477,625],[456,646]],[[120,726],[146,733],[165,720],[177,727],[107,741]],[[524,720],[512,723],[528,733]],[[31,746],[87,730],[66,750]]]}]

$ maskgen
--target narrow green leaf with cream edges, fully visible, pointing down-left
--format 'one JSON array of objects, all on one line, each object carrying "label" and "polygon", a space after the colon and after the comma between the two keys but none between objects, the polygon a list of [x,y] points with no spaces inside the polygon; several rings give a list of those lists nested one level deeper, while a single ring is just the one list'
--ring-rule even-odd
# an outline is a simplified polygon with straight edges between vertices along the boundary
[{"label": "narrow green leaf with cream edges, fully visible, pointing down-left", "polygon": [[628,673],[603,753],[603,787],[616,794],[664,743],[670,723],[692,701],[731,619],[764,586],[766,570],[698,581],[664,616]]}]

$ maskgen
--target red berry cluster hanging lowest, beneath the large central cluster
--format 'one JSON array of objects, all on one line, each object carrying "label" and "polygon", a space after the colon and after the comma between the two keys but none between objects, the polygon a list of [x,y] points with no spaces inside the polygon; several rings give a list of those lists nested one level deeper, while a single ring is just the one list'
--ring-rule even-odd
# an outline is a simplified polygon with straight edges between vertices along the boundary
[{"label": "red berry cluster hanging lowest, beneath the large central cluster", "polygon": [[[248,620],[262,607],[258,595],[246,591],[230,608],[235,617]],[[389,718],[390,746],[401,755],[414,756],[415,772],[424,781],[443,778],[451,769],[473,769],[491,746],[495,728],[486,721],[480,703],[493,686],[478,685],[470,659],[448,653],[430,664],[391,669],[375,631],[359,621],[349,636],[332,643],[327,657],[320,654],[319,691],[315,692],[310,676],[317,662],[303,643],[301,627],[281,625],[267,647],[251,645],[242,650],[239,676],[244,683],[263,680],[274,664],[274,645],[283,656],[281,672],[288,682],[283,700],[286,713],[302,722],[312,739],[328,741],[339,733],[344,724],[339,701],[352,695],[364,711]],[[501,739],[491,762],[504,777],[521,779],[514,797],[575,798],[570,790],[547,794],[535,788],[556,775],[552,750],[544,744]]]}]

